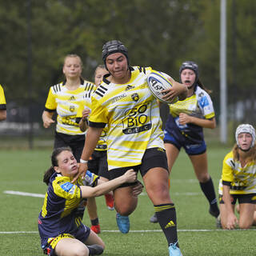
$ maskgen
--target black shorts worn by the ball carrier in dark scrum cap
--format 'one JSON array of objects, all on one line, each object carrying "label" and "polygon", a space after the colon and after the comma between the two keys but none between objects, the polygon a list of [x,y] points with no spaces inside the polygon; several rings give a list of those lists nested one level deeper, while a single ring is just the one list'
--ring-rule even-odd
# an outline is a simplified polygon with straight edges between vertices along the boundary
[{"label": "black shorts worn by the ball carrier in dark scrum cap", "polygon": [[[166,158],[166,150],[160,147],[154,147],[145,151],[142,157],[142,163],[138,166],[127,166],[122,168],[116,168],[109,171],[110,179],[118,178],[125,174],[127,170],[134,169],[136,172],[140,171],[142,177],[147,173],[148,170],[155,168],[155,167],[162,167],[168,171],[168,164]],[[133,186],[137,182],[134,183],[123,183],[119,187],[124,186]]]}]

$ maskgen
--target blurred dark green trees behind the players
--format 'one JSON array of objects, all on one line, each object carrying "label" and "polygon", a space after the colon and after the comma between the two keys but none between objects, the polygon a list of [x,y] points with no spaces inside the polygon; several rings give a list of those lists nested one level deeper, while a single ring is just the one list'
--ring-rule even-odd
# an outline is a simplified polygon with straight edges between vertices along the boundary
[{"label": "blurred dark green trees behind the players", "polygon": [[[242,102],[241,121],[255,123],[256,1],[226,3],[229,113]],[[118,39],[131,65],[152,66],[177,80],[183,61],[197,62],[219,114],[219,24],[220,0],[0,0],[0,83],[7,107],[37,106],[32,112],[38,121],[49,87],[63,79],[65,55],[81,56],[83,76],[92,80],[103,43]]]}]

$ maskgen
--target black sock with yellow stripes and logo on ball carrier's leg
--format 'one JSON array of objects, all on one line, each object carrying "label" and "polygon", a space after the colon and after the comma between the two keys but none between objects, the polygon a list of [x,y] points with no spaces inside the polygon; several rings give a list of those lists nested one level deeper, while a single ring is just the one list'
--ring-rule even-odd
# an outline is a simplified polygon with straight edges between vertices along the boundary
[{"label": "black sock with yellow stripes and logo on ball carrier's leg", "polygon": [[176,223],[176,210],[173,203],[162,204],[154,206],[155,213],[158,217],[158,222],[166,236],[168,246],[170,243],[178,246],[177,223]]}]

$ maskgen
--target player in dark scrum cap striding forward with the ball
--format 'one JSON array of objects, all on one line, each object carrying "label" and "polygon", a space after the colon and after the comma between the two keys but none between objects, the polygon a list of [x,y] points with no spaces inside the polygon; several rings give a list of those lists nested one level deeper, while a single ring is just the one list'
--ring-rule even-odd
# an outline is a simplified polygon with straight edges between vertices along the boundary
[{"label": "player in dark scrum cap striding forward with the ball", "polygon": [[[178,248],[176,211],[169,194],[168,166],[158,102],[146,82],[152,69],[130,66],[127,48],[117,40],[106,42],[102,59],[110,74],[104,76],[92,95],[92,112],[80,171],[87,170],[90,155],[107,125],[110,179],[119,177],[130,168],[140,171],[146,192],[166,235],[169,253],[182,255]],[[165,98],[186,98],[186,86],[172,82],[174,86],[166,90]],[[122,233],[129,231],[128,215],[135,210],[138,202],[131,191],[130,184],[123,184],[114,190],[118,228]]]}]

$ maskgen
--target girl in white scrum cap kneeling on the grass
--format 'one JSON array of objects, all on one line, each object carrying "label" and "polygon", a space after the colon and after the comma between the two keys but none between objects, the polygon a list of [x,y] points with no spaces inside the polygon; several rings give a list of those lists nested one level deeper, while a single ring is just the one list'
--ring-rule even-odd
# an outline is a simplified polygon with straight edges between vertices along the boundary
[{"label": "girl in white scrum cap kneeling on the grass", "polygon": [[[223,229],[249,229],[256,224],[256,146],[255,130],[249,124],[238,126],[236,144],[226,154],[219,182],[220,220]],[[238,200],[239,219],[234,214]],[[219,221],[219,218],[218,218]],[[218,223],[218,222],[217,222]],[[219,224],[219,223],[218,223]]]}]

